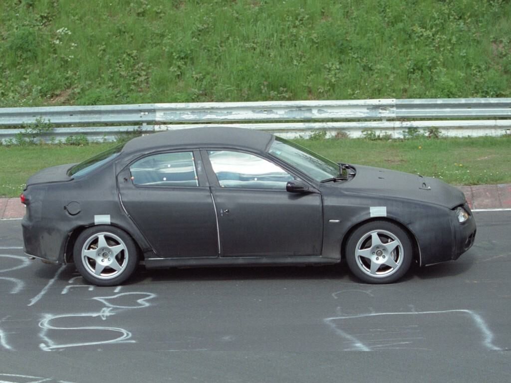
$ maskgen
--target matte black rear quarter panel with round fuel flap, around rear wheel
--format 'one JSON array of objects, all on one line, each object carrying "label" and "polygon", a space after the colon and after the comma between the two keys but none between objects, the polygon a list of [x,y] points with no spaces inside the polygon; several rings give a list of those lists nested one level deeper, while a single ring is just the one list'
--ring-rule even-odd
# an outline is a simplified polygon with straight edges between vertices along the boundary
[{"label": "matte black rear quarter panel with round fuel flap, around rear wheel", "polygon": [[[30,201],[21,221],[27,254],[65,263],[69,255],[65,254],[69,235],[74,230],[95,225],[95,216],[108,216],[110,224],[128,232],[143,252],[151,252],[144,236],[120,204],[111,164],[72,181],[30,184],[24,195]],[[65,209],[70,202],[78,203],[80,212],[70,214]]]}]

